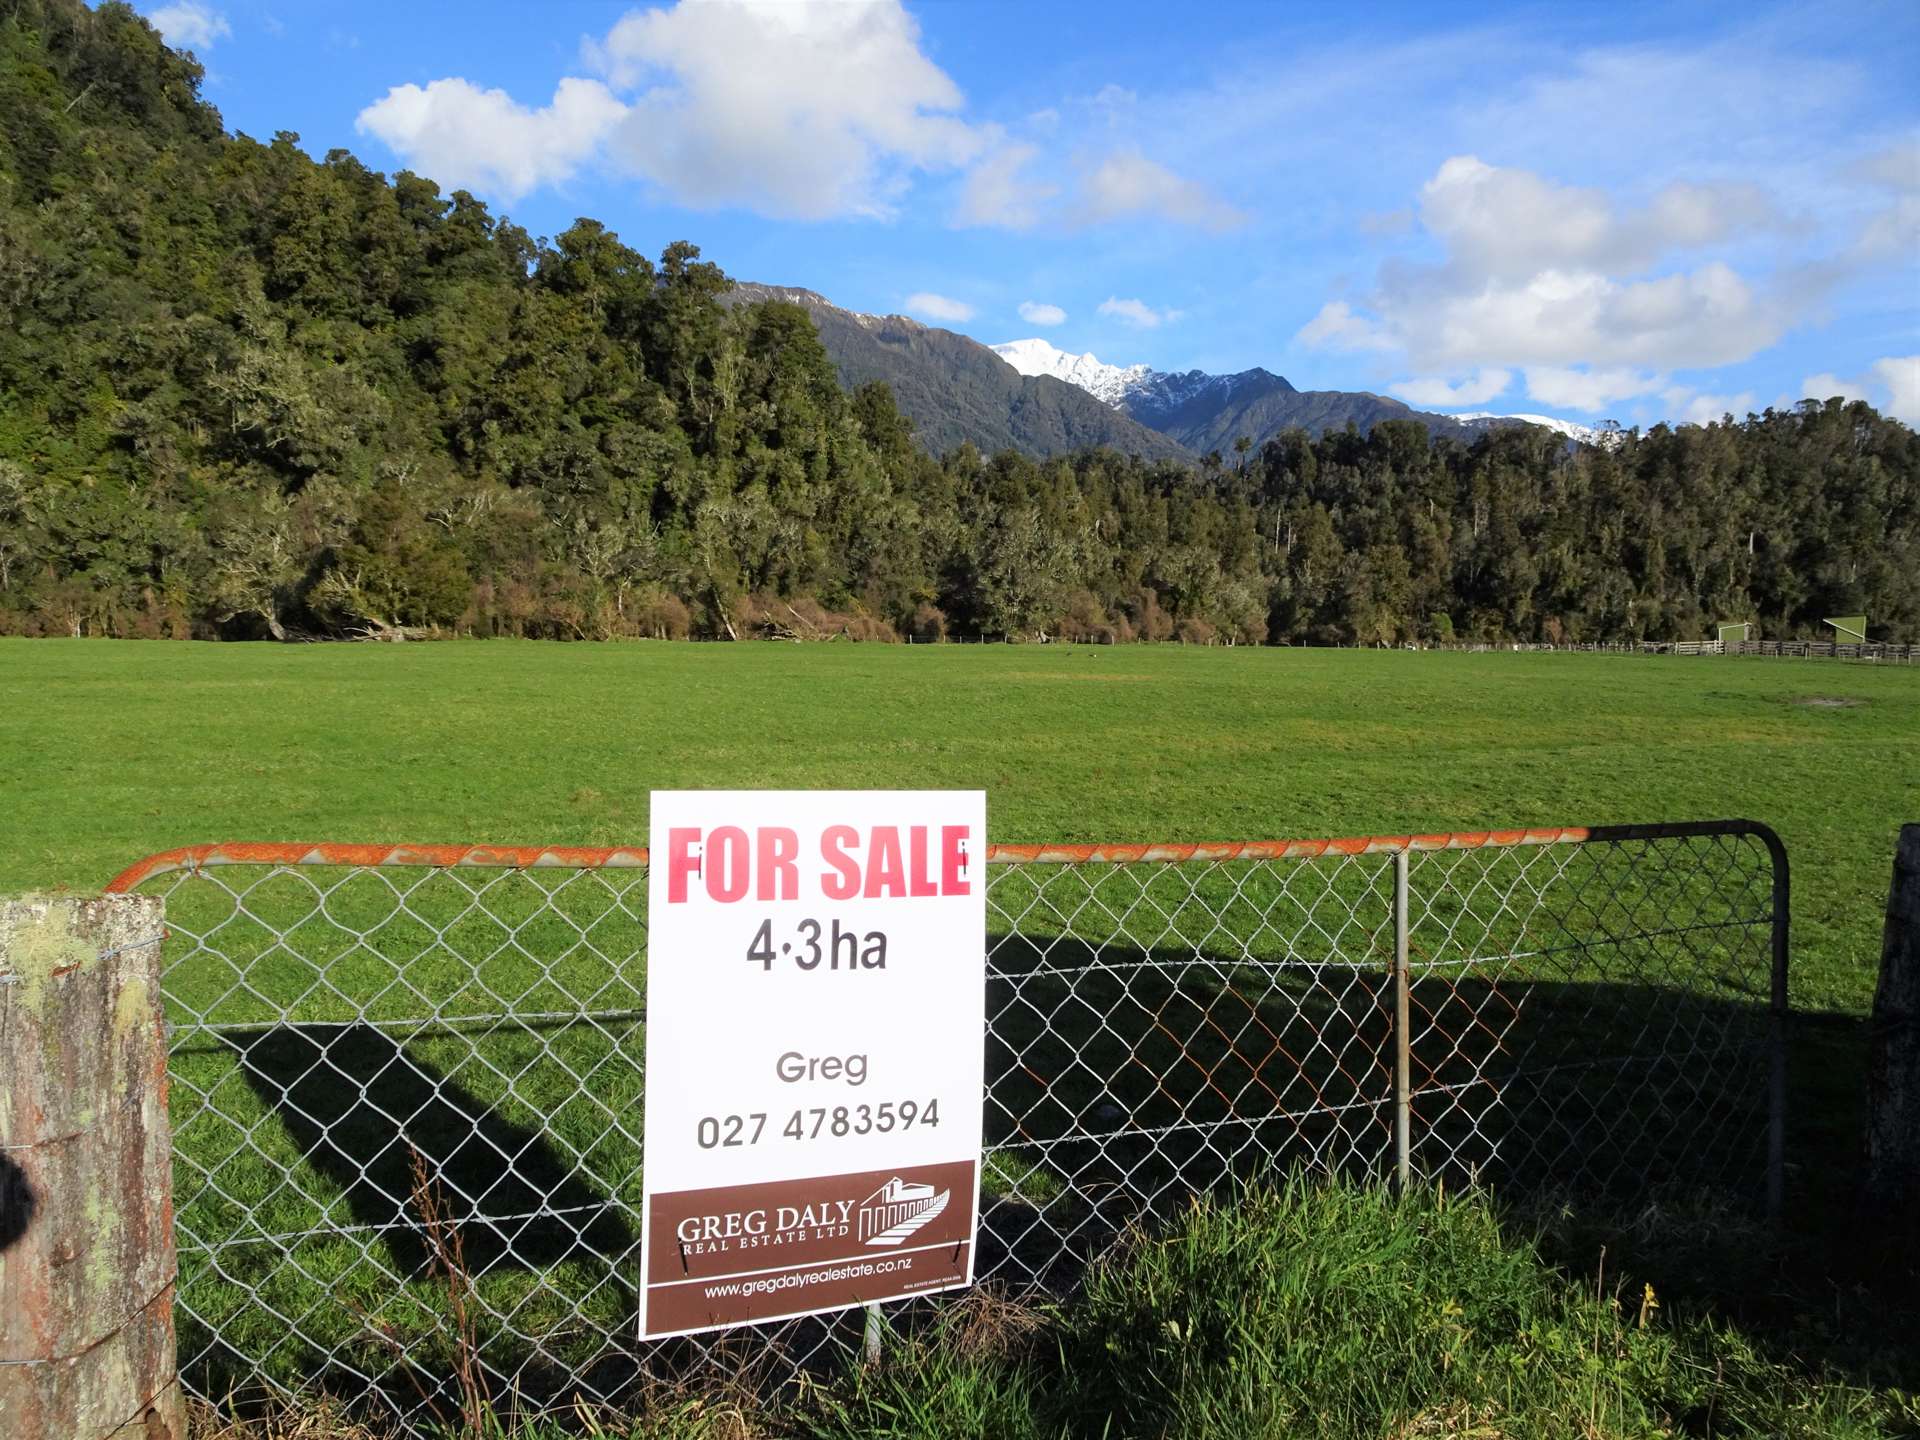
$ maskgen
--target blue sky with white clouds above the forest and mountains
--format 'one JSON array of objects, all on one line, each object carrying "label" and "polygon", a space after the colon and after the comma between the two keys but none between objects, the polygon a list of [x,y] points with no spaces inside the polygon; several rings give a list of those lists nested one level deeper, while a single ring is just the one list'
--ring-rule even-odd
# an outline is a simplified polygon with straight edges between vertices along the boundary
[{"label": "blue sky with white clouds above the forest and mountains", "polygon": [[255,136],[985,342],[1920,422],[1920,6],[173,0]]}]

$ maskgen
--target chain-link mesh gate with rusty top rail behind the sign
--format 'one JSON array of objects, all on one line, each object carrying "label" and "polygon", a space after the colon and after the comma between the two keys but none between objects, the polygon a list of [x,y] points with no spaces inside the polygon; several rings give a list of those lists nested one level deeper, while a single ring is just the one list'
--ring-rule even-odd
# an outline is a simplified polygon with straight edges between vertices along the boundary
[{"label": "chain-link mesh gate with rusty top rail behind the sign", "polygon": [[[634,1338],[645,862],[223,845],[113,883],[167,897],[192,1392],[420,1421],[461,1350],[518,1404],[858,1352],[858,1311]],[[1776,1206],[1786,897],[1749,822],[995,847],[979,1275],[1071,1288],[1294,1167]]]}]

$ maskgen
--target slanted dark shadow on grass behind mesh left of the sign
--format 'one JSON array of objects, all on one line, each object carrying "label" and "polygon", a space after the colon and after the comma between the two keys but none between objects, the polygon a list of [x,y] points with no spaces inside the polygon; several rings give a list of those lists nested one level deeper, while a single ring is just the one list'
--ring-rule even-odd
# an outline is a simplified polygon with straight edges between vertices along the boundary
[{"label": "slanted dark shadow on grass behind mesh left of the sign", "polygon": [[380,1235],[399,1275],[426,1267],[413,1156],[445,1192],[476,1275],[543,1269],[636,1236],[551,1140],[505,1119],[372,1025],[276,1025],[228,1039],[248,1085],[280,1116],[357,1227]]}]

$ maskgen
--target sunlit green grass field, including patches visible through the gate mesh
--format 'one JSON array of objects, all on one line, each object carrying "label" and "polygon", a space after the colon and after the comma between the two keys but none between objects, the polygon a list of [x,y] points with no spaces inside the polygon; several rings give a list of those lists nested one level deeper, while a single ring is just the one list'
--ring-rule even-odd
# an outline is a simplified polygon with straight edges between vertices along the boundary
[{"label": "sunlit green grass field, including patches visible through the gate mesh", "polygon": [[[0,641],[0,689],[10,760],[0,766],[0,889],[98,889],[146,852],[225,839],[645,843],[647,791],[701,785],[981,785],[998,841],[1763,820],[1793,858],[1793,996],[1809,1020],[1797,1037],[1789,1162],[1797,1217],[1816,1229],[1837,1215],[1859,1142],[1859,1018],[1893,835],[1920,816],[1920,670],[1814,660]],[[223,1023],[267,1021],[305,995],[305,1029],[207,1037],[175,1062],[180,1152],[196,1179],[211,1181],[186,1183],[180,1196],[182,1227],[215,1256],[213,1273],[188,1284],[188,1306],[248,1354],[275,1352],[288,1375],[330,1348],[359,1350],[369,1363],[367,1317],[409,1336],[428,1363],[444,1359],[426,1342],[436,1334],[430,1286],[396,1284],[396,1273],[417,1267],[417,1246],[365,1229],[390,1206],[382,1194],[407,1188],[388,1114],[415,1116],[409,1131],[468,1190],[486,1185],[493,1156],[536,1133],[557,1137],[564,1154],[524,1152],[528,1183],[493,1188],[490,1215],[541,1200],[586,1213],[599,1196],[637,1206],[637,1123],[622,1129],[620,1117],[639,1106],[639,1025],[495,1033],[486,1044],[405,1029],[422,1004],[486,1014],[505,996],[515,1010],[564,1010],[568,995],[591,993],[601,1010],[637,1006],[639,975],[618,964],[572,952],[536,973],[499,948],[511,927],[553,927],[566,910],[618,956],[637,947],[632,916],[609,910],[597,885],[555,906],[538,891],[551,881],[501,879],[490,914],[476,914],[453,889],[467,881],[413,872],[405,883],[419,885],[411,914],[396,912],[380,883],[355,879],[328,897],[323,925],[296,924],[313,908],[305,881],[271,881],[250,908],[278,916],[284,943],[248,924],[221,935],[228,956],[263,956],[250,991],[230,989],[225,962],[186,964],[171,979],[177,1018],[184,1004]],[[1342,885],[1354,902],[1375,881],[1356,872]],[[1697,899],[1703,881],[1686,885]],[[225,895],[202,891],[173,893],[177,925],[221,918]],[[438,950],[419,924],[436,906],[463,914]],[[355,927],[374,933],[355,941]],[[557,931],[549,952],[564,943]],[[323,966],[326,989],[309,993]],[[1219,1004],[1181,985],[1154,991],[1150,1006],[1200,1016]],[[1580,991],[1578,1002],[1590,996]],[[1327,1000],[1275,991],[1252,1008],[1235,1002],[1229,1023],[1252,1010],[1284,1037]],[[1127,1002],[1125,993],[1100,998],[1089,1023]],[[361,1016],[399,1029],[321,1027]],[[1085,1039],[1102,1035],[1094,1025]],[[344,1066],[380,1096],[380,1110],[342,1098],[330,1071],[315,1077],[323,1048],[334,1071]],[[445,1089],[396,1066],[401,1052]],[[1219,1058],[1202,1056],[1206,1066]],[[1116,1094],[1125,1079],[1140,1081],[1121,1050],[1114,1071]],[[1311,1079],[1319,1089],[1325,1077]],[[1154,1087],[1140,1087],[1139,1104],[1152,1104]],[[1246,1091],[1238,1104],[1265,1100]],[[317,1148],[323,1131],[332,1152]],[[1054,1160],[1050,1171],[1039,1152],[1000,1150],[989,1190],[1048,1202],[1062,1183]],[[330,1235],[353,1221],[357,1233]],[[284,1265],[276,1244],[252,1238],[257,1231],[309,1238]],[[482,1281],[488,1306],[515,1329],[624,1323],[628,1296],[607,1283],[607,1258],[630,1235],[536,1244],[480,1227],[470,1238],[482,1269],[516,1252]],[[290,1319],[305,1346],[282,1344]],[[198,1346],[205,1332],[188,1325],[186,1338]],[[582,1344],[591,1348],[591,1336]]]}]

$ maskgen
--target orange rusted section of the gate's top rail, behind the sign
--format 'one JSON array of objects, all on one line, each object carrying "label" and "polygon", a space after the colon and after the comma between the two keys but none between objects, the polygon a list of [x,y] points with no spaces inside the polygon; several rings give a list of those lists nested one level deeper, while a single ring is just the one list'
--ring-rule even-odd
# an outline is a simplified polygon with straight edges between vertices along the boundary
[{"label": "orange rusted section of the gate's top rail, behind the sign", "polygon": [[[1578,845],[1615,837],[1586,826],[1544,829],[1467,829],[1446,835],[1352,835],[1344,839],[1221,841],[1200,845],[989,845],[989,864],[1185,864],[1194,860],[1313,860],[1323,854],[1390,854],[1394,851],[1478,851],[1507,845]],[[117,895],[154,876],[207,866],[476,866],[492,870],[637,870],[645,847],[578,845],[332,845],[240,843],[182,845],[136,860],[108,883]]]}]

